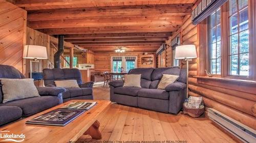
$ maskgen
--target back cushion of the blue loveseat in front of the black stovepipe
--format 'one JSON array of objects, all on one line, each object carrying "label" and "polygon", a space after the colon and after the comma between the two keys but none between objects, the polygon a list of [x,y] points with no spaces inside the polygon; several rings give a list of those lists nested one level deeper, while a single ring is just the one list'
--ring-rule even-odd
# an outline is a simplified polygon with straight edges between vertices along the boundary
[{"label": "back cushion of the blue loveseat in front of the black stovepipe", "polygon": [[82,83],[81,72],[78,69],[44,69],[45,85],[55,85],[56,80],[72,80],[75,79],[78,84]]}]

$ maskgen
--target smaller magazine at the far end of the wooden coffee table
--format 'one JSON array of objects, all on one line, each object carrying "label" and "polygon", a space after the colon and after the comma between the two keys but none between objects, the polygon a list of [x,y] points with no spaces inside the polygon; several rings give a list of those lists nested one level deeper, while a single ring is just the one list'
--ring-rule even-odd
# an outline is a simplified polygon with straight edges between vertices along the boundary
[{"label": "smaller magazine at the far end of the wooden coffee table", "polygon": [[89,101],[74,101],[70,102],[68,105],[60,107],[62,109],[80,109],[80,110],[89,110],[93,106],[95,106],[97,102],[89,102]]}]

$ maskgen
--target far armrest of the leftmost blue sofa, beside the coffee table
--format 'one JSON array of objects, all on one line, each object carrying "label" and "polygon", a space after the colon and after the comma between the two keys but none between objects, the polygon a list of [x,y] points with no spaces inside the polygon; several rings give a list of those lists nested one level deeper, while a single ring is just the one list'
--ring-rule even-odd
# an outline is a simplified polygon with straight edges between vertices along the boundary
[{"label": "far armrest of the leftmost blue sofa, beside the coffee table", "polygon": [[58,96],[59,94],[66,92],[66,89],[59,87],[37,87],[37,91],[40,96]]}]

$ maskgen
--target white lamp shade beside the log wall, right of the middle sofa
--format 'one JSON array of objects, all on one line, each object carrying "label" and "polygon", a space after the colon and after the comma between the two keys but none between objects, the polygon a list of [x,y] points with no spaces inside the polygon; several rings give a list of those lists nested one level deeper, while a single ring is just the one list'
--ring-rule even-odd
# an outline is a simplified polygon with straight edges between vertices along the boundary
[{"label": "white lamp shade beside the log wall, right of the middle sofa", "polygon": [[194,59],[197,58],[195,45],[181,45],[175,49],[175,59]]}]

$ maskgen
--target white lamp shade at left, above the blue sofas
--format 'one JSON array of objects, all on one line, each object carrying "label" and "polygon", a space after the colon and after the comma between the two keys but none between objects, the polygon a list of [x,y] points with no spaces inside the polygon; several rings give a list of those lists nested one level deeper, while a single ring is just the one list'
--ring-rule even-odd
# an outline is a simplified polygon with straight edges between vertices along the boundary
[{"label": "white lamp shade at left, above the blue sofas", "polygon": [[23,51],[24,59],[48,59],[47,49],[44,46],[25,45]]}]

